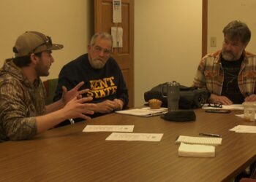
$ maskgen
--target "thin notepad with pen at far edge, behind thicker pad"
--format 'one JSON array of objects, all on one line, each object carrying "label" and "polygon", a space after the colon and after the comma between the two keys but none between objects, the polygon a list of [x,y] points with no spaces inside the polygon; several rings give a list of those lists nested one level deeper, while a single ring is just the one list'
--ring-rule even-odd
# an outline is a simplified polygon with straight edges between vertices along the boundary
[{"label": "thin notepad with pen at far edge, behind thicker pad", "polygon": [[191,137],[191,136],[178,136],[176,143],[200,144],[208,146],[218,146],[222,144],[222,138],[214,137]]}]

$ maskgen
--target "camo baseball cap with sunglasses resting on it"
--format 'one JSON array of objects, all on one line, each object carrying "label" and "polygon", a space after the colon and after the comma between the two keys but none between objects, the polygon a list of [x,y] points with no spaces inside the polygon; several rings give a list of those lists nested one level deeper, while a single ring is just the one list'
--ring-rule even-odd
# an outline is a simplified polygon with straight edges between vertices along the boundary
[{"label": "camo baseball cap with sunglasses resting on it", "polygon": [[63,47],[61,44],[53,44],[50,36],[38,31],[26,31],[18,37],[12,50],[15,58],[18,58],[46,50],[61,50]]}]

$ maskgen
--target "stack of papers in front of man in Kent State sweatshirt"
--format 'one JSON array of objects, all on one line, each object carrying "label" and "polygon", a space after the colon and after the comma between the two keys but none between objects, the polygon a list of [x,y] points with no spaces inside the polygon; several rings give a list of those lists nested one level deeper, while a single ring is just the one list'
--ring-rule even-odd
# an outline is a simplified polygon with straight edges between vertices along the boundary
[{"label": "stack of papers in front of man in Kent State sweatshirt", "polygon": [[146,108],[133,108],[133,109],[124,110],[124,111],[116,111],[116,113],[148,117],[148,116],[156,116],[159,114],[165,114],[167,113],[167,111],[168,111],[168,108],[151,109],[149,107],[146,107]]}]

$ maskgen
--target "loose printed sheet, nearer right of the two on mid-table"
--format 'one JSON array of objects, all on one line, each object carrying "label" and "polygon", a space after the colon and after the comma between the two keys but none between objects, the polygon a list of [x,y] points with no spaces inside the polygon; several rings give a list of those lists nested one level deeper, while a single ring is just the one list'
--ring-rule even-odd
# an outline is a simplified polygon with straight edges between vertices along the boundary
[{"label": "loose printed sheet, nearer right of the two on mid-table", "polygon": [[106,141],[161,141],[163,133],[112,132]]}]

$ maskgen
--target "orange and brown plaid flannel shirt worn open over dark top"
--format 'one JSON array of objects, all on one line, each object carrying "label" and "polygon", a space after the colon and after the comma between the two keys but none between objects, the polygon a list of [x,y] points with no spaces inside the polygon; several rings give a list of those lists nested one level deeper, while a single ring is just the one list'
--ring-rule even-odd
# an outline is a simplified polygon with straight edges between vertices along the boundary
[{"label": "orange and brown plaid flannel shirt worn open over dark top", "polygon": [[[221,50],[208,54],[200,61],[193,84],[221,95],[224,70],[220,61]],[[256,55],[244,51],[244,60],[238,74],[238,87],[244,97],[256,92]]]}]

